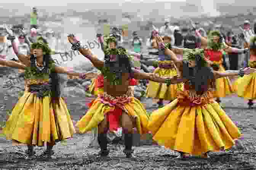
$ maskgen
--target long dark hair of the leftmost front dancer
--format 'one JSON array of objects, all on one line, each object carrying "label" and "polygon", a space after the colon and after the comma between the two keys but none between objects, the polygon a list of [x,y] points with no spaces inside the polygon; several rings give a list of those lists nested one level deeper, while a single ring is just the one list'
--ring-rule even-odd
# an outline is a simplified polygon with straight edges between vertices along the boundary
[{"label": "long dark hair of the leftmost front dancer", "polygon": [[[37,68],[35,61],[36,57],[34,54],[30,55],[31,67]],[[55,63],[50,54],[43,55],[43,63],[45,63],[45,68],[42,70],[44,73],[49,72],[50,63]],[[61,95],[60,86],[59,86],[59,75],[54,70],[50,73],[51,78],[51,103],[59,104],[59,97]]]}]

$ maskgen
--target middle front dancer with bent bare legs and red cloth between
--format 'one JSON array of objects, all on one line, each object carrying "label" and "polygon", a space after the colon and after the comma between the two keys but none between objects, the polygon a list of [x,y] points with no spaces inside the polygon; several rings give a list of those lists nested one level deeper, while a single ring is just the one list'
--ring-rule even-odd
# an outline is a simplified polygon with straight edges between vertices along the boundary
[{"label": "middle front dancer with bent bare legs and red cloth between", "polygon": [[[149,79],[162,83],[175,83],[177,77],[163,79],[152,73],[141,73],[132,68],[127,51],[123,48],[107,48],[104,61],[91,53],[90,49],[82,49],[80,42],[74,35],[68,36],[72,49],[88,58],[104,76],[104,93],[93,101],[88,112],[77,122],[80,133],[90,131],[98,126],[98,142],[101,148],[100,155],[107,156],[107,132],[117,131],[122,124],[125,137],[126,157],[132,157],[133,128],[136,127],[139,134],[148,132],[147,124],[149,116],[141,102],[131,97],[129,86],[130,79]],[[110,41],[110,39],[109,39]],[[109,46],[115,46],[115,42],[109,42]],[[121,120],[121,121],[119,121]]]}]

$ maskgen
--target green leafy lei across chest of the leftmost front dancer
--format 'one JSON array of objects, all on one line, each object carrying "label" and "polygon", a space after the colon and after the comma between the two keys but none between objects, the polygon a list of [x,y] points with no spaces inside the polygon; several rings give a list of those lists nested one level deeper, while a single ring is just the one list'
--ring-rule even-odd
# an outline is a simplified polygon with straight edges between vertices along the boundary
[{"label": "green leafy lei across chest of the leftmost front dancer", "polygon": [[40,71],[37,67],[26,67],[25,79],[48,79],[51,74],[51,70],[54,67],[54,61],[49,61],[48,72]]}]

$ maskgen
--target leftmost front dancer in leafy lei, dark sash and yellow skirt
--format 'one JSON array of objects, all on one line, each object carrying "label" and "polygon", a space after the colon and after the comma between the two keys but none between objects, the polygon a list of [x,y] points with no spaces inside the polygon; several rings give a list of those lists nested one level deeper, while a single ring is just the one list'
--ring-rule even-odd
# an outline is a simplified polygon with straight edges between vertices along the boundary
[{"label": "leftmost front dancer in leafy lei, dark sash and yellow skirt", "polygon": [[[3,129],[6,139],[15,144],[27,145],[27,159],[34,156],[34,146],[44,146],[43,156],[53,157],[56,142],[69,139],[75,133],[73,122],[64,100],[60,97],[58,73],[81,78],[93,78],[93,73],[81,74],[56,66],[51,58],[48,45],[38,41],[31,44],[33,54],[19,54],[14,42],[15,36],[9,32],[13,50],[25,68],[25,92],[14,106],[11,116]],[[22,134],[22,135],[21,135]]]}]

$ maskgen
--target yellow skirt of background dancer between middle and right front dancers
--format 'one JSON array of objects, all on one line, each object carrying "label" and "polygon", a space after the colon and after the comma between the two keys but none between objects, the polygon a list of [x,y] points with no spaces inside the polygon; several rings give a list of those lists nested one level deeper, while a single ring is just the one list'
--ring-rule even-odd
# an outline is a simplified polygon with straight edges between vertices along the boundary
[{"label": "yellow skirt of background dancer between middle and right front dancers", "polygon": [[[160,77],[177,76],[177,72],[175,69],[156,68],[154,73],[158,74]],[[174,99],[176,99],[177,89],[183,89],[183,84],[171,84],[169,87],[167,87],[165,83],[149,81],[146,95],[149,98],[173,101]]]}]

